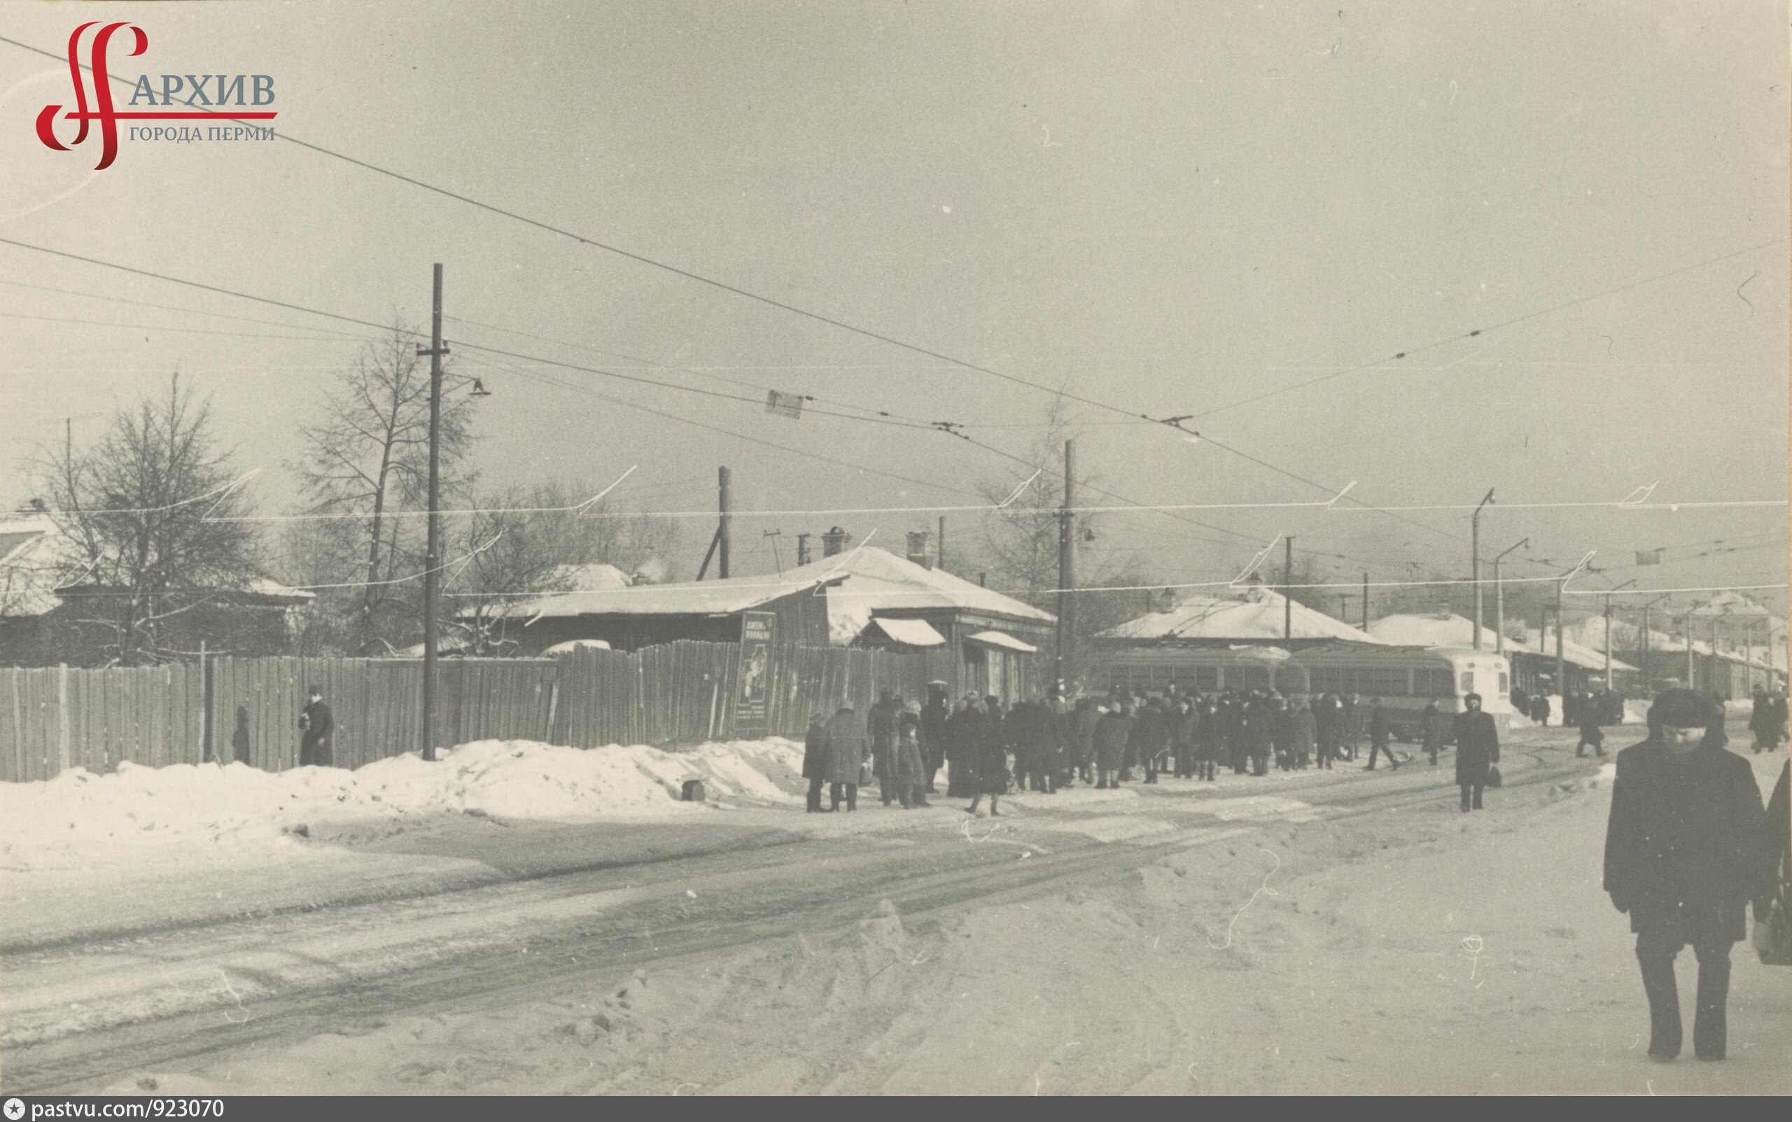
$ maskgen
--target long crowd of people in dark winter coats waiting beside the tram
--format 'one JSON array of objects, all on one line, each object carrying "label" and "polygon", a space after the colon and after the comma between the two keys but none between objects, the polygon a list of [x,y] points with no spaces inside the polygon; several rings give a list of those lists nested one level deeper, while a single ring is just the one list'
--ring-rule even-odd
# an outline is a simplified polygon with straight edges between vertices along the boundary
[{"label": "long crowd of people in dark winter coats waiting beside the tram", "polygon": [[[1462,810],[1478,810],[1500,746],[1480,697],[1469,697],[1469,712],[1457,713],[1453,724],[1430,703],[1419,733],[1432,765],[1446,740],[1457,742]],[[926,807],[926,796],[939,794],[944,769],[948,798],[971,799],[973,814],[987,798],[989,814],[998,816],[1000,798],[1011,790],[1054,794],[1077,783],[1106,790],[1134,780],[1156,783],[1159,774],[1213,781],[1220,767],[1267,776],[1271,762],[1279,771],[1330,769],[1357,760],[1364,740],[1367,771],[1380,756],[1391,769],[1410,762],[1392,747],[1392,712],[1380,697],[1364,703],[1357,694],[1202,695],[1172,685],[1149,695],[1113,690],[1075,703],[1036,692],[1011,706],[995,695],[966,694],[948,710],[943,690],[934,690],[925,706],[885,690],[866,717],[842,706],[810,721],[803,776],[812,814],[842,803],[857,810],[858,787],[873,780],[885,807]]]}]

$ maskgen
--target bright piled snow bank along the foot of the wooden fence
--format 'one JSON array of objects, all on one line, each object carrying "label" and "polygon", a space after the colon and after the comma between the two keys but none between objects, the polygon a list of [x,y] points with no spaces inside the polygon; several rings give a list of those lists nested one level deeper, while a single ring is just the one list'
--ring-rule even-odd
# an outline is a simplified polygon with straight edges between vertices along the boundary
[{"label": "bright piled snow bank along the foot of the wooden fence", "polygon": [[[167,844],[219,850],[290,844],[290,828],[324,823],[487,814],[588,821],[706,814],[713,801],[799,801],[803,749],[790,740],[735,740],[692,751],[645,746],[557,747],[478,740],[425,764],[416,753],[360,771],[246,764],[176,764],[95,776],[66,771],[38,783],[0,783],[0,867],[88,867],[165,860]],[[711,803],[679,801],[701,778]]]}]

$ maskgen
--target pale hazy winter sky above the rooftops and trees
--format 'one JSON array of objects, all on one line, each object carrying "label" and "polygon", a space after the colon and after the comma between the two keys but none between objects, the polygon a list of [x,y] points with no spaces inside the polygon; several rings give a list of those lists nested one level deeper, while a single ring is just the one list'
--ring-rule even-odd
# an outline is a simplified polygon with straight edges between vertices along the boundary
[{"label": "pale hazy winter sky above the rooftops and trees", "polygon": [[[134,20],[149,52],[120,45],[115,73],[271,73],[283,134],[1129,414],[1197,414],[1190,427],[1288,473],[1357,480],[1369,504],[1473,504],[1489,486],[1520,504],[1650,482],[1663,502],[1785,498],[1785,14],[1778,0],[14,0],[0,34],[61,52],[79,22]],[[32,133],[66,100],[66,66],[0,43],[4,238],[375,321],[425,323],[443,262],[450,337],[950,419],[1007,452],[1038,436],[1032,389],[287,142],[125,138],[91,174],[97,142],[50,152]],[[11,246],[0,281],[0,498],[29,495],[16,461],[63,418],[93,437],[177,367],[263,470],[260,502],[294,500],[281,462],[355,350],[342,324]],[[1382,362],[1400,351],[1414,355]],[[731,464],[747,509],[874,507],[973,502],[962,491],[1014,468],[918,428],[459,358],[493,389],[477,407],[491,482],[640,464],[620,502],[704,509]],[[1299,387],[1337,371],[1351,373]],[[1287,393],[1224,409],[1269,391]],[[1165,427],[1081,416],[1082,461],[1138,502],[1326,496]],[[1468,566],[1466,511],[1409,514],[1430,529],[1348,504],[1188,516],[1229,532],[1134,513],[1109,516],[1095,548],[1136,552],[1163,581],[1224,579],[1278,532],[1348,556],[1319,557],[1340,581]],[[932,518],[742,522],[737,570],[771,570],[760,531],[783,529],[788,563],[792,534],[833,522],[900,550]],[[975,518],[952,525],[962,541]],[[683,572],[710,529],[692,522]],[[1787,579],[1785,507],[1484,520],[1489,552],[1523,536],[1568,565],[1668,547],[1670,565],[1611,581]],[[1735,552],[1688,557],[1710,548]]]}]

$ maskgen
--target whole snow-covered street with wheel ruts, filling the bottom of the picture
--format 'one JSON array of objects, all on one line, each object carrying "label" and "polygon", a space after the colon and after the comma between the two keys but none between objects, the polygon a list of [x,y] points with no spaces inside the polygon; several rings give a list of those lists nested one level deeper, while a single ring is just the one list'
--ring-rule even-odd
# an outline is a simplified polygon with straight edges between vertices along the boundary
[{"label": "whole snow-covered street with wheel ruts, filling the bottom of the picture", "polygon": [[[1729,735],[1747,751],[1745,728]],[[1609,744],[1638,738],[1611,729]],[[500,749],[482,751],[487,774],[504,767]],[[944,798],[885,810],[874,789],[857,814],[805,816],[797,749],[781,742],[672,762],[575,755],[597,767],[607,751],[667,783],[697,756],[724,807],[647,792],[584,821],[572,801],[520,817],[523,799],[505,807],[491,790],[521,774],[455,794],[392,760],[324,776],[340,812],[324,816],[330,799],[312,792],[303,833],[262,817],[265,830],[213,821],[156,844],[82,837],[61,853],[111,860],[77,871],[9,830],[0,1083],[1792,1090],[1792,971],[1747,945],[1733,954],[1729,1059],[1643,1059],[1631,936],[1598,889],[1609,760],[1575,760],[1572,731],[1514,731],[1507,783],[1473,816],[1455,807],[1450,753],[1398,772],[1366,774],[1358,758],[1331,772],[1079,787],[973,819]],[[525,756],[509,760],[538,765]],[[1749,758],[1765,796],[1785,756]],[[1683,993],[1690,984],[1683,961]]]}]

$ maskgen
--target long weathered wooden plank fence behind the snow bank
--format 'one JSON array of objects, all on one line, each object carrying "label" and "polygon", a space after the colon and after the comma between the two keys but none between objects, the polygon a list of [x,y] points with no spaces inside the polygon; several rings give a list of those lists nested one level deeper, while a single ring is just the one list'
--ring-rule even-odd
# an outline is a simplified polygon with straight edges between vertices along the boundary
[{"label": "long weathered wooden plank fence behind the snow bank", "polygon": [[[602,747],[733,738],[738,654],[737,643],[681,640],[636,652],[577,649],[552,660],[443,660],[439,744]],[[812,713],[842,704],[862,713],[880,690],[919,699],[932,679],[952,679],[950,652],[781,645],[769,669],[767,731],[799,737]],[[312,685],[324,690],[335,717],[339,767],[418,747],[419,660],[0,669],[0,781],[48,780],[68,767],[108,772],[120,762],[163,767],[208,758],[285,771],[297,765],[297,717]]]}]

